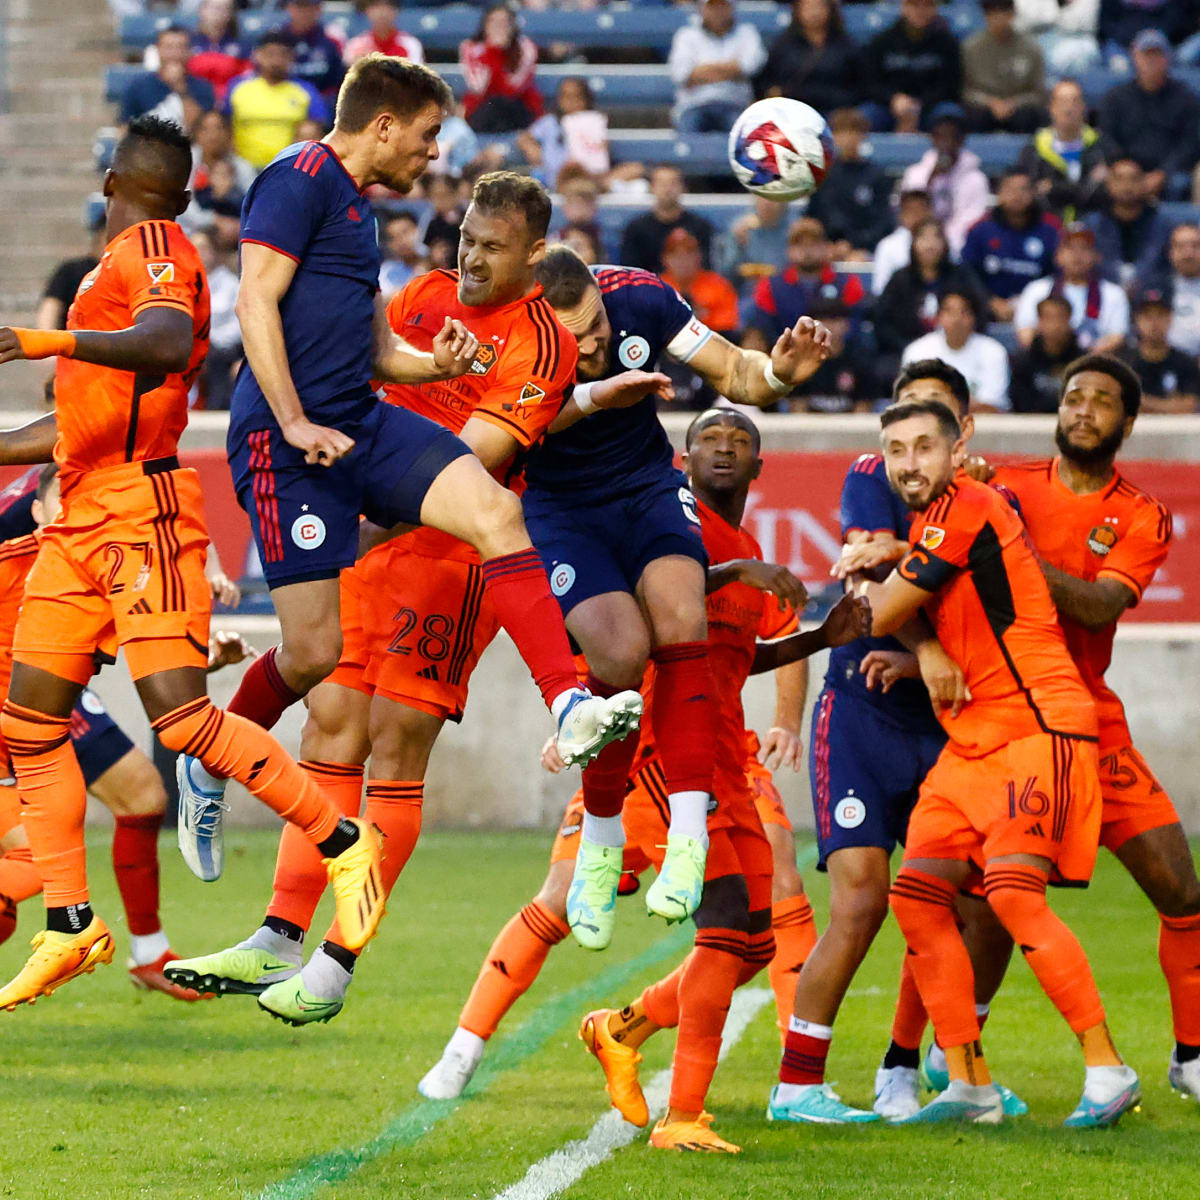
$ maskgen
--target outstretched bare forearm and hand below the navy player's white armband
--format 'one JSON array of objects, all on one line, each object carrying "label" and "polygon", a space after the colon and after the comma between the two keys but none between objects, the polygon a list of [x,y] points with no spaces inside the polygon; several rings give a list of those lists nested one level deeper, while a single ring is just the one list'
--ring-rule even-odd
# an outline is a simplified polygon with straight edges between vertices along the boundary
[{"label": "outstretched bare forearm and hand below the navy player's white armband", "polygon": [[811,317],[800,317],[780,334],[770,355],[745,350],[713,334],[688,365],[713,389],[736,404],[762,408],[804,383],[830,352],[829,330]]}]

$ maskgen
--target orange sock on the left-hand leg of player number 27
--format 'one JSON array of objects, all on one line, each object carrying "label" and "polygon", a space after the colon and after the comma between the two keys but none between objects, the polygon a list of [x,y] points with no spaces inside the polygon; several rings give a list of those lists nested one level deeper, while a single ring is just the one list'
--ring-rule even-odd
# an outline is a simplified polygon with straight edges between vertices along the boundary
[{"label": "orange sock on the left-hand leg of player number 27", "polygon": [[83,820],[88,792],[74,750],[68,716],[47,716],[5,702],[0,733],[8,744],[25,833],[44,883],[46,907],[88,900],[88,862]]}]

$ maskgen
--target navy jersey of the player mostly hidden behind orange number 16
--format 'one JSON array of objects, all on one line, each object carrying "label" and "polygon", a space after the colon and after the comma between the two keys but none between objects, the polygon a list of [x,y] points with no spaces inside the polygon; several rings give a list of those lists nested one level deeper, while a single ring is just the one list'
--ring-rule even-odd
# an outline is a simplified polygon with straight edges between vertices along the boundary
[{"label": "navy jersey of the player mostly hidden behind orange number 16", "polygon": [[[901,541],[908,540],[911,515],[904,500],[888,482],[883,458],[864,454],[854,460],[841,487],[841,536],[852,529],[866,533],[890,533]],[[904,725],[936,726],[929,692],[920,679],[900,679],[887,695],[868,689],[859,664],[871,650],[902,650],[894,637],[860,637],[848,646],[840,646],[829,654],[826,686],[853,691],[870,703],[884,709]]]}]

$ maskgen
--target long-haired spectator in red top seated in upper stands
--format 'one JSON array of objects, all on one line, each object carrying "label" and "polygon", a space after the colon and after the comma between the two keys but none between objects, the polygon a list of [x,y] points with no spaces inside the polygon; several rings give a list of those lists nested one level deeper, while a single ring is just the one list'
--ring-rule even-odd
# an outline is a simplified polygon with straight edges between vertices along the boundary
[{"label": "long-haired spectator in red top seated in upper stands", "polygon": [[546,110],[534,83],[538,47],[517,29],[505,4],[485,10],[479,32],[458,47],[467,82],[463,104],[476,133],[528,128]]}]

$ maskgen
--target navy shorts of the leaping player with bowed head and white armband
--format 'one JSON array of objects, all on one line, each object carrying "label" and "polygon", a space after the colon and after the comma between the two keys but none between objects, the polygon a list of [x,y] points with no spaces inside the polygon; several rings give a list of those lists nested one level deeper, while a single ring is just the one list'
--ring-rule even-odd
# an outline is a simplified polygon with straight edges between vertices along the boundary
[{"label": "navy shorts of the leaping player with bowed head and white armband", "polygon": [[683,554],[708,566],[696,498],[672,469],[662,482],[611,500],[574,500],[529,488],[526,528],[565,617],[605,592],[634,593],[656,558]]}]

